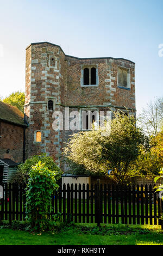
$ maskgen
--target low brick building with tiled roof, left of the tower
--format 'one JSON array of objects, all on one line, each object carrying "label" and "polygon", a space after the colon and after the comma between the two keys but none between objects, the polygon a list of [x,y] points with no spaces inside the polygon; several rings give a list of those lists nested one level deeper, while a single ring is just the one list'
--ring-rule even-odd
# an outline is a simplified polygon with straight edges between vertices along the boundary
[{"label": "low brick building with tiled roof, left of the tower", "polygon": [[0,159],[23,162],[24,115],[16,107],[0,101]]}]

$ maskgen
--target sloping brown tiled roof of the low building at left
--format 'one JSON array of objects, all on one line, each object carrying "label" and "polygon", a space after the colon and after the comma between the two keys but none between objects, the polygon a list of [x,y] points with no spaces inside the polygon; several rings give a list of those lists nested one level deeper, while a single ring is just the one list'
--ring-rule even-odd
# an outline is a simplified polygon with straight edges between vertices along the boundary
[{"label": "sloping brown tiled roof of the low building at left", "polygon": [[0,101],[0,119],[15,123],[18,125],[24,125],[23,113],[14,106],[11,106],[3,101]]}]

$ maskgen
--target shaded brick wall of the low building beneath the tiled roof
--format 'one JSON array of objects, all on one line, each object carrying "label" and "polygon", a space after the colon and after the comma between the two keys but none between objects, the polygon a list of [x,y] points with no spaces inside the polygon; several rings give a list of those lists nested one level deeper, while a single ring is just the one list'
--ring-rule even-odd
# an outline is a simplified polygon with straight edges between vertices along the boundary
[{"label": "shaded brick wall of the low building beneath the tiled roof", "polygon": [[23,127],[1,121],[0,158],[23,161]]}]

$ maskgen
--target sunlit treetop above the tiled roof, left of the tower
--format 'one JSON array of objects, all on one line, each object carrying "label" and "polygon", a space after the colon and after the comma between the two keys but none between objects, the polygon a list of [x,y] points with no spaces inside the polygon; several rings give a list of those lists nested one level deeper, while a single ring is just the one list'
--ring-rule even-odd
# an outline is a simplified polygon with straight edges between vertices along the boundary
[{"label": "sunlit treetop above the tiled roof, left of the tower", "polygon": [[17,91],[11,93],[9,96],[2,99],[2,101],[17,107],[22,113],[24,113],[25,94],[23,92]]}]

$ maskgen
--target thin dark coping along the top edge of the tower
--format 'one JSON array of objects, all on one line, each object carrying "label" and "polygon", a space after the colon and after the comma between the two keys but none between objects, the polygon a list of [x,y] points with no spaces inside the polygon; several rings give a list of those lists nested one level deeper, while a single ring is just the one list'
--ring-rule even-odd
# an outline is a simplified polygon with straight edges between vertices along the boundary
[{"label": "thin dark coping along the top edge of the tower", "polygon": [[[31,46],[31,45],[40,45],[40,44],[49,44],[49,45],[53,45],[53,46],[57,46],[60,48],[60,50],[65,54],[65,52],[62,50],[62,48],[60,47],[60,45],[55,45],[55,44],[52,44],[52,42],[32,42],[30,45],[27,46],[26,50]],[[70,57],[70,58],[76,58],[76,59],[115,59],[115,60],[127,60],[128,62],[131,62],[133,64],[135,64],[135,62],[132,62],[131,60],[129,59],[124,59],[124,58],[113,58],[113,57],[93,57],[93,58],[79,58],[79,57],[74,57],[74,56],[71,56],[71,55],[67,55],[65,54],[66,57]]]}]

